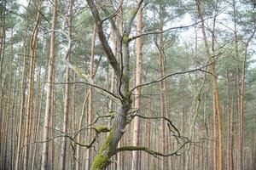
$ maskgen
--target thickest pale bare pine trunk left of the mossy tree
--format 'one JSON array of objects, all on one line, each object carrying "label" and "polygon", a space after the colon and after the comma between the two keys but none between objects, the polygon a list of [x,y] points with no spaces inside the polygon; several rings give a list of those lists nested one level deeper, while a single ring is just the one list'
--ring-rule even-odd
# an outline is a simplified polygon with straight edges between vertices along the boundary
[{"label": "thickest pale bare pine trunk left of the mossy tree", "polygon": [[[43,140],[47,141],[49,139],[49,118],[51,115],[51,100],[52,100],[52,82],[53,82],[53,71],[55,65],[55,20],[57,14],[57,0],[54,2],[54,10],[52,16],[51,24],[51,35],[50,35],[50,48],[49,48],[49,66],[47,74],[47,94],[46,94],[46,108],[44,114],[44,137]],[[42,153],[42,170],[49,169],[49,142],[44,142],[43,153]]]}]

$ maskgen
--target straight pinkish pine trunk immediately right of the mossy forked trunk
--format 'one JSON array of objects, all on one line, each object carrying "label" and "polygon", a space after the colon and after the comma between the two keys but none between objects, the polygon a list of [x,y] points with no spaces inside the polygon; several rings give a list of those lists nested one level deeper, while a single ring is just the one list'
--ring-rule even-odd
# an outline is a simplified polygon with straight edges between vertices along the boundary
[{"label": "straight pinkish pine trunk immediately right of the mossy forked trunk", "polygon": [[[139,8],[137,12],[137,36],[141,36],[143,33],[143,8]],[[136,42],[136,77],[135,77],[135,85],[139,85],[142,83],[142,70],[143,70],[143,38],[137,38]],[[135,109],[139,110],[138,113],[141,113],[141,88],[137,88],[135,90]],[[133,133],[132,133],[132,144],[134,146],[138,146],[140,144],[140,120],[139,117],[134,117],[133,119]],[[131,169],[139,170],[140,163],[139,151],[132,151],[132,160],[131,160]]]}]

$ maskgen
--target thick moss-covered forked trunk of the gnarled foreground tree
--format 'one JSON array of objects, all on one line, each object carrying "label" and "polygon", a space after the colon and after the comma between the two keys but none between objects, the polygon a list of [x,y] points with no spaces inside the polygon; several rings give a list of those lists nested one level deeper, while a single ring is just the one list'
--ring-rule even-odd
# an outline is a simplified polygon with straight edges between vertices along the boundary
[{"label": "thick moss-covered forked trunk of the gnarled foreground tree", "polygon": [[107,38],[104,34],[104,31],[102,29],[102,20],[100,18],[98,9],[96,8],[96,4],[91,0],[86,0],[86,2],[90,6],[91,13],[95,20],[95,24],[97,27],[97,34],[98,34],[99,40],[102,43],[102,48],[104,49],[104,52],[108,58],[108,61],[110,65],[113,67],[113,71],[119,80],[120,103],[117,108],[117,111],[111,126],[111,131],[108,133],[108,136],[105,139],[103,139],[102,145],[100,146],[100,149],[97,151],[96,157],[92,162],[91,169],[96,170],[96,169],[105,169],[111,163],[110,158],[111,156],[115,155],[119,140],[125,133],[125,126],[127,122],[129,122],[127,117],[128,117],[128,111],[130,111],[131,103],[132,103],[131,91],[129,88],[129,82],[131,79],[129,36],[131,31],[131,24],[135,19],[138,8],[140,8],[141,3],[143,3],[143,1],[139,1],[139,3],[137,3],[137,7],[131,11],[131,15],[125,26],[125,31],[121,32],[122,37],[121,37],[121,33],[117,29],[117,26],[115,26],[113,19],[110,19],[111,24],[114,27],[114,31],[116,31],[115,33],[117,35],[118,41],[121,42],[121,50],[120,50],[121,65],[119,65],[116,59],[116,56],[113,54],[113,50],[110,48]]}]

